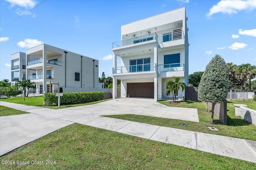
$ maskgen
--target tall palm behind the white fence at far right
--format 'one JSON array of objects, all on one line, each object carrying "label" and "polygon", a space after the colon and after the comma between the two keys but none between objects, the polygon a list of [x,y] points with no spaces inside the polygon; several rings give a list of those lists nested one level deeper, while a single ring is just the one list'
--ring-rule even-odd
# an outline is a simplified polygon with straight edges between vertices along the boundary
[{"label": "tall palm behind the white fence at far right", "polygon": [[244,82],[250,78],[250,74],[248,74],[248,70],[250,70],[251,64],[241,64],[236,67],[235,72],[236,72],[236,78],[240,81],[241,83],[241,92],[243,91],[244,87]]}]

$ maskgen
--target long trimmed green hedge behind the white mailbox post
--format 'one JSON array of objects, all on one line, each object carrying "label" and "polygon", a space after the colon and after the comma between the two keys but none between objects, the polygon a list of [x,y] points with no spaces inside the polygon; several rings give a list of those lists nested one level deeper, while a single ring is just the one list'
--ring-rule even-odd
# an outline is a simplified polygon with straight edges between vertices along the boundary
[{"label": "long trimmed green hedge behind the white mailbox post", "polygon": [[[58,97],[55,96],[56,93],[46,93],[44,94],[44,105],[55,106],[58,104]],[[103,100],[105,92],[77,92],[77,93],[63,93],[60,97],[60,104],[80,104],[95,102],[98,100]]]}]

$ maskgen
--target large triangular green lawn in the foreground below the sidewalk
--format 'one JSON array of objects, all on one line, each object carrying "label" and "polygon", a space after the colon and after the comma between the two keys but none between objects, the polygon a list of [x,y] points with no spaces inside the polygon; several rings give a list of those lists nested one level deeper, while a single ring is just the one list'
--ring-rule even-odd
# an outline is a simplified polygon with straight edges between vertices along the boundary
[{"label": "large triangular green lawn in the foreground below the sidewalk", "polygon": [[[256,164],[199,150],[72,124],[20,147],[0,160],[43,165],[0,165],[1,170],[255,170]],[[46,160],[55,164],[45,165]]]}]

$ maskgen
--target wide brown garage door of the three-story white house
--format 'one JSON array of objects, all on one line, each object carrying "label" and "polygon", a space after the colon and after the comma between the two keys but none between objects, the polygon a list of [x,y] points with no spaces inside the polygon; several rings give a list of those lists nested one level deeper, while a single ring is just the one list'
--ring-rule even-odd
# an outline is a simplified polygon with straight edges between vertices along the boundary
[{"label": "wide brown garage door of the three-story white house", "polygon": [[127,97],[154,98],[154,83],[127,83]]}]

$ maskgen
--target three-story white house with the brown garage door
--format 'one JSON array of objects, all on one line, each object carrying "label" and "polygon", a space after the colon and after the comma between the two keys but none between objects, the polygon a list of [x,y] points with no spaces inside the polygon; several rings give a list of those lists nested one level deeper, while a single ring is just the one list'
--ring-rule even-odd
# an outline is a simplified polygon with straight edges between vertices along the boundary
[{"label": "three-story white house with the brown garage door", "polygon": [[[185,7],[121,26],[113,43],[113,98],[121,80],[121,98],[171,97],[165,82],[172,76],[188,86],[188,28]],[[117,56],[121,66],[117,67]],[[185,92],[178,91],[178,98]]]}]

